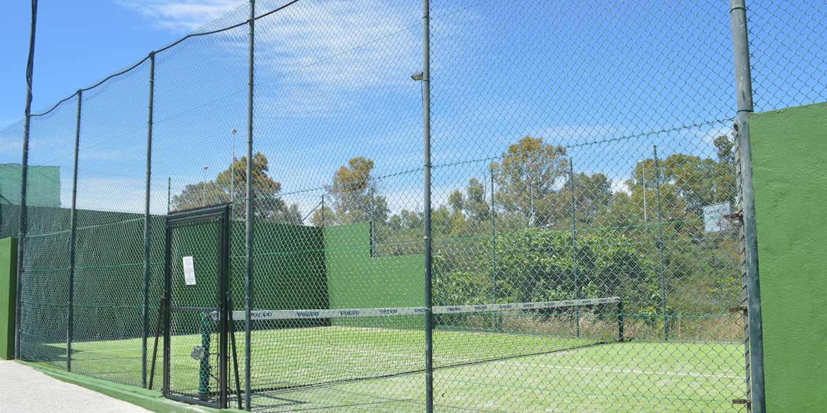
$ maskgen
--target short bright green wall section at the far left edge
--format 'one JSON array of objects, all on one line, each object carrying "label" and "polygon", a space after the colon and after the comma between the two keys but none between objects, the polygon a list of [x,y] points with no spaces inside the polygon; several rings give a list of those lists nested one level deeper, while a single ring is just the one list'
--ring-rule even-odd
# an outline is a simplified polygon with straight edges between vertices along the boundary
[{"label": "short bright green wall section at the far left edge", "polygon": [[0,240],[0,359],[14,358],[17,238]]}]

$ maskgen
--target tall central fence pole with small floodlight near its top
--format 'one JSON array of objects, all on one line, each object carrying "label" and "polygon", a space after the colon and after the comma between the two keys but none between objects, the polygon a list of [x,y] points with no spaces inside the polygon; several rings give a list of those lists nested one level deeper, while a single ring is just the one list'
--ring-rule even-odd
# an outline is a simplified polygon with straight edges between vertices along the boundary
[{"label": "tall central fence pole with small floodlight near its top", "polygon": [[422,0],[423,208],[425,241],[425,411],[433,412],[433,297],[431,294],[431,33],[430,2]]}]

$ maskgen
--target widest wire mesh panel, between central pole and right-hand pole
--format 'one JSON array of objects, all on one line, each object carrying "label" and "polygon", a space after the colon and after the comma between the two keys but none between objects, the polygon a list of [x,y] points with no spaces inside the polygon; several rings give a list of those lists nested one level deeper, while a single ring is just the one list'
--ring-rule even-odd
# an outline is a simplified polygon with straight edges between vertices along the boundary
[{"label": "widest wire mesh panel, between central pole and right-hand pole", "polygon": [[437,305],[624,304],[437,317],[435,365],[442,330],[525,357],[437,370],[435,409],[738,411],[736,228],[708,211],[735,202],[726,4],[431,12]]}]

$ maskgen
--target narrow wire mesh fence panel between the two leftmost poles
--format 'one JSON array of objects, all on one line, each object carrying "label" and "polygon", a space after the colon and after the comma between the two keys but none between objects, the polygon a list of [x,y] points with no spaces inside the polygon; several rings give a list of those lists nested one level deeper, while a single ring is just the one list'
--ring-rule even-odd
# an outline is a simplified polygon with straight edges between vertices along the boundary
[{"label": "narrow wire mesh fence panel between the two leftmost poles", "polygon": [[[31,118],[23,257],[20,354],[66,367],[69,207],[77,97]],[[19,173],[20,170],[18,169]],[[20,182],[20,178],[17,178]]]}]

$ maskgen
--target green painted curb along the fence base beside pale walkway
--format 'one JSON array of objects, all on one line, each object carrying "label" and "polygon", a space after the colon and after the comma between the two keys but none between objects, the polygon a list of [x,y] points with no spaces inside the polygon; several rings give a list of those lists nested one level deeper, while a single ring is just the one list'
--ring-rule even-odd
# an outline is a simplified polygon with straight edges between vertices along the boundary
[{"label": "green painted curb along the fence base beside pale walkway", "polygon": [[24,361],[17,361],[17,363],[25,364],[37,371],[54,377],[61,382],[68,382],[80,387],[88,388],[94,392],[102,393],[107,396],[116,398],[117,400],[127,401],[136,406],[141,406],[148,411],[155,411],[157,413],[246,413],[238,409],[211,409],[209,407],[188,405],[172,401],[165,398],[161,392],[156,390],[147,390],[145,388],[129,386],[127,384],[120,384],[115,382],[108,382],[103,379],[84,376],[78,373],[69,373],[60,368],[54,368],[43,363],[31,363]]}]

